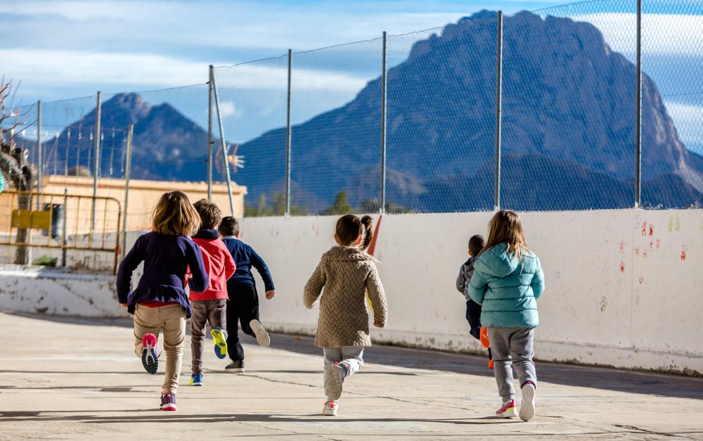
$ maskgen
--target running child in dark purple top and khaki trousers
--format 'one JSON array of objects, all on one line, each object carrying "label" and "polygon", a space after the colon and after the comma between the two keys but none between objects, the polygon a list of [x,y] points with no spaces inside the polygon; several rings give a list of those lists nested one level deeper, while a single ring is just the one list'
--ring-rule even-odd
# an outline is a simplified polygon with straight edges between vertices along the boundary
[{"label": "running child in dark purple top and khaki trousers", "polygon": [[[153,230],[136,240],[117,271],[117,299],[134,314],[134,352],[148,373],[156,373],[159,367],[156,342],[159,332],[164,331],[162,410],[176,410],[186,319],[191,317],[183,282],[186,270],[190,267],[191,292],[205,290],[209,283],[200,248],[188,237],[199,225],[198,212],[185,193],[165,193],[153,213]],[[131,291],[132,273],[141,262],[144,273]]]}]

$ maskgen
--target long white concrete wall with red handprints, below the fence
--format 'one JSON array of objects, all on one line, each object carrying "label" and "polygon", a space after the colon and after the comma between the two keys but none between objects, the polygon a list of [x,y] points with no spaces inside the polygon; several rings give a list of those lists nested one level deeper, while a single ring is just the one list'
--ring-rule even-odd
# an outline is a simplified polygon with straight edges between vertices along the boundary
[{"label": "long white concrete wall with red handprints, below the fence", "polygon": [[[479,351],[454,288],[472,234],[491,213],[385,215],[376,257],[389,302],[378,341]],[[703,373],[703,213],[608,210],[522,215],[546,273],[536,356],[626,368]],[[378,216],[375,217],[378,219]],[[333,245],[334,217],[247,218],[243,239],[264,256],[278,288],[262,321],[314,331],[302,289]],[[646,226],[645,226],[646,223]],[[685,255],[685,259],[682,256]]]}]

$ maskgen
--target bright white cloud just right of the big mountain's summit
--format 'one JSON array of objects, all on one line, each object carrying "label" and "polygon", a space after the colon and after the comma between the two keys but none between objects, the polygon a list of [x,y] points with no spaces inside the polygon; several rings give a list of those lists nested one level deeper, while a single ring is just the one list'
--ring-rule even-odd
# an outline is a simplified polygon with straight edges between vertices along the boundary
[{"label": "bright white cloud just right of the big mountain's summit", "polygon": [[[574,15],[574,20],[592,23],[610,47],[621,53],[636,49],[636,15],[596,13]],[[703,15],[643,14],[642,52],[652,55],[701,56]]]}]

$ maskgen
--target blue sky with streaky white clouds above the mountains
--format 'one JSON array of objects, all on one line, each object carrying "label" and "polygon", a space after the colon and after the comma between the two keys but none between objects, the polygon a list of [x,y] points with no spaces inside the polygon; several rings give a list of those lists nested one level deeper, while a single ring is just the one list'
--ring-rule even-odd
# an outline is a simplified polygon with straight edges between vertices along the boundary
[{"label": "blue sky with streaky white clouds above the mountains", "polygon": [[[693,0],[645,0],[645,71],[659,85],[680,135],[703,142],[703,6]],[[34,1],[0,3],[0,55],[6,78],[22,80],[18,100],[144,91],[202,84],[207,65],[233,65],[344,44],[301,54],[294,122],[349,101],[378,75],[378,37],[441,27],[481,9],[534,11],[562,1]],[[634,1],[591,1],[543,13],[597,25],[616,51],[633,58]],[[413,41],[432,31],[394,37],[392,63]],[[656,38],[654,37],[656,36]],[[226,131],[243,141],[285,122],[285,60],[274,58],[221,72]],[[169,101],[205,122],[203,88],[146,94]],[[691,94],[697,91],[698,94]],[[89,107],[91,100],[80,101]],[[47,104],[47,106],[51,106]],[[67,108],[64,103],[55,107]],[[75,112],[55,125],[75,120]],[[51,112],[47,112],[51,120]],[[49,124],[51,125],[51,122]],[[50,136],[50,135],[48,135]],[[228,138],[230,136],[228,135]]]}]

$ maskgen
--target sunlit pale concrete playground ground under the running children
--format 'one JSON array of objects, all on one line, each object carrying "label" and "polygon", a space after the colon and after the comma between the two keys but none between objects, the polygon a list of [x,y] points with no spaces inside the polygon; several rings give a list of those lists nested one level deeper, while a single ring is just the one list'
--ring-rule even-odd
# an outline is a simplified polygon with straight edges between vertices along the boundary
[{"label": "sunlit pale concrete playground ground under the running children", "polygon": [[[311,338],[247,340],[247,372],[205,357],[205,386],[158,409],[162,369],[131,352],[129,321],[0,313],[0,440],[489,439],[703,440],[703,378],[538,363],[537,416],[491,416],[496,384],[482,357],[375,346],[321,416],[322,359]],[[248,338],[247,338],[248,339]]]}]

